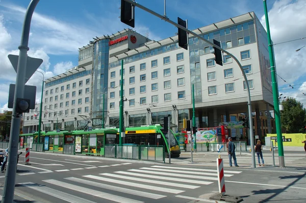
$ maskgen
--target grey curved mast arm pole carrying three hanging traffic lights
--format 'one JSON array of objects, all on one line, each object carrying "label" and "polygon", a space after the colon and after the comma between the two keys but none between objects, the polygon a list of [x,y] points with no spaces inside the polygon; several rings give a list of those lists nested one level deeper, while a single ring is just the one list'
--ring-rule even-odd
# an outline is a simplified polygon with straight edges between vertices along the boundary
[{"label": "grey curved mast arm pole carrying three hanging traffic lights", "polygon": [[[170,20],[168,17],[166,16],[162,16],[132,0],[123,0],[125,2],[128,2],[130,4],[132,4],[133,6],[136,6],[152,15],[155,15],[159,18],[161,18],[162,20],[165,20],[166,22],[169,22],[170,24],[173,24],[173,26],[175,26],[176,28],[180,28],[184,31],[186,31],[187,33],[189,34],[192,34],[193,36],[197,37],[198,39],[202,40],[202,41],[205,41],[207,42],[208,44],[212,45],[213,47],[216,47],[218,49],[220,49],[222,52],[226,53],[228,56],[232,57],[238,64],[242,74],[243,74],[243,78],[245,80],[245,83],[246,83],[246,87],[247,87],[247,105],[248,105],[248,117],[249,117],[249,123],[250,123],[250,126],[253,126],[253,123],[252,123],[252,107],[251,107],[251,95],[250,95],[250,88],[249,88],[249,84],[248,84],[248,81],[247,81],[247,78],[246,78],[246,74],[242,68],[242,65],[240,64],[239,60],[234,56],[232,55],[231,53],[227,52],[226,50],[224,50],[223,48],[221,48],[220,46],[217,46],[216,44],[214,44],[213,42],[209,41],[209,40],[206,40],[205,38],[199,36],[198,34],[192,32],[191,30],[188,30],[187,28],[185,28],[184,26],[181,26],[180,24],[177,24],[176,22]],[[250,138],[253,138],[253,131],[250,131]],[[251,156],[252,156],[252,168],[256,168],[256,162],[255,162],[255,154],[254,154],[254,141],[253,139],[250,139],[250,145],[251,145]]]}]

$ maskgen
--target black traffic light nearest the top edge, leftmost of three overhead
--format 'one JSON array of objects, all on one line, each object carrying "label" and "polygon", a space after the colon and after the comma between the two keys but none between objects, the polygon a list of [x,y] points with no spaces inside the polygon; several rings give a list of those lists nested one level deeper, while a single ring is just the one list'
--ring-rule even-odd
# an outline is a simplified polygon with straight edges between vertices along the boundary
[{"label": "black traffic light nearest the top edge, leftmost of three overhead", "polygon": [[125,2],[124,0],[121,0],[121,15],[120,20],[121,22],[127,24],[128,26],[131,26],[132,28],[135,28],[135,7]]}]

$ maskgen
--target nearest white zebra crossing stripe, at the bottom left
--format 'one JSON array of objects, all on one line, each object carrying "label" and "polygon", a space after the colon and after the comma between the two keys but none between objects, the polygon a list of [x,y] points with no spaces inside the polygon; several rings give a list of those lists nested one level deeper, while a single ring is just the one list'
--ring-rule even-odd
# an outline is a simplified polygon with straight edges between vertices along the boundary
[{"label": "nearest white zebra crossing stripe, at the bottom left", "polygon": [[[71,195],[71,194],[67,194],[65,192],[59,191],[59,190],[55,190],[52,188],[48,188],[46,186],[42,186],[42,185],[32,185],[34,183],[21,183],[19,185],[23,185],[25,187],[31,188],[33,190],[57,197],[59,199],[71,202],[71,203],[94,203],[93,201],[81,198],[81,197],[77,197],[75,195]],[[32,186],[31,186],[32,185]]]}]

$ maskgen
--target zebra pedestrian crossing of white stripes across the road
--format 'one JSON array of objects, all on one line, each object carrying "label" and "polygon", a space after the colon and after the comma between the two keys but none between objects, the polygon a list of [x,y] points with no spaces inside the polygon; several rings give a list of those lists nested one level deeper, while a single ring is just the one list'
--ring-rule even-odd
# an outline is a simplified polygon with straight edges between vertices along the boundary
[{"label": "zebra pedestrian crossing of white stripes across the road", "polygon": [[[225,179],[242,171],[224,170]],[[166,197],[183,198],[186,191],[217,184],[217,170],[165,165],[132,168],[99,174],[42,180],[44,184],[19,183],[22,188],[49,195],[54,202],[147,202]],[[217,186],[216,186],[217,189]],[[30,190],[30,191],[31,191]],[[77,191],[78,196],[74,192]],[[73,194],[74,193],[74,194]],[[82,194],[91,196],[84,198]],[[47,198],[48,199],[48,198]],[[97,201],[97,199],[100,199]],[[155,202],[155,201],[154,201]]]}]

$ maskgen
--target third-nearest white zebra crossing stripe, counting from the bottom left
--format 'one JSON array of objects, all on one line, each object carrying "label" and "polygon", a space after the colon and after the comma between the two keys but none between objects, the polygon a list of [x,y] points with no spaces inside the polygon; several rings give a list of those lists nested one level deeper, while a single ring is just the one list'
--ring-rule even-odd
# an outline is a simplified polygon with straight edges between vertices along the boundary
[{"label": "third-nearest white zebra crossing stripe, counting from the bottom left", "polygon": [[93,181],[78,179],[77,177],[66,177],[65,179],[70,180],[70,181],[75,181],[78,183],[92,185],[92,186],[99,187],[99,188],[108,189],[108,190],[114,190],[114,191],[123,192],[127,194],[134,194],[137,196],[144,196],[144,197],[151,198],[151,199],[160,199],[160,198],[166,197],[165,195],[154,194],[154,193],[149,193],[149,192],[142,192],[138,190],[131,190],[131,189],[121,188],[121,187],[107,185],[103,183],[97,183]]}]

